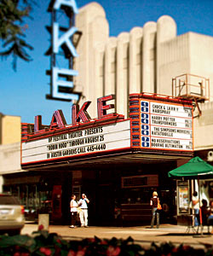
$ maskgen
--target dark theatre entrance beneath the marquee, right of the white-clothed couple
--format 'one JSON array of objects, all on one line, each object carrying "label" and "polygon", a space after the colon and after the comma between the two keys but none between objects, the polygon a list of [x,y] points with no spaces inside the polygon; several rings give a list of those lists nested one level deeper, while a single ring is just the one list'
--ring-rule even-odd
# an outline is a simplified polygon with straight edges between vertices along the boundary
[{"label": "dark theatre entrance beneath the marquee, right of the white-clothed couple", "polygon": [[98,170],[83,171],[87,177],[94,177],[85,180],[82,175],[82,182],[87,185],[81,190],[90,200],[89,224],[149,224],[152,217],[149,202],[153,191],[158,192],[163,205],[161,223],[175,224],[176,181],[170,180],[167,174],[174,166],[176,161],[140,166],[135,163],[108,165]]}]

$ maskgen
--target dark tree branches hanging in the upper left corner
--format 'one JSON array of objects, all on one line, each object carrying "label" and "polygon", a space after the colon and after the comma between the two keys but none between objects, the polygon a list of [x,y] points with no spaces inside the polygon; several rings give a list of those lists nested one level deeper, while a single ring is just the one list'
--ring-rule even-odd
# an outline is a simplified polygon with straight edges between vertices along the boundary
[{"label": "dark tree branches hanging in the upper left corner", "polygon": [[17,59],[32,61],[26,49],[33,49],[25,41],[27,24],[26,17],[30,18],[32,10],[31,0],[0,0],[0,52],[2,57],[13,56],[13,68],[16,70]]}]

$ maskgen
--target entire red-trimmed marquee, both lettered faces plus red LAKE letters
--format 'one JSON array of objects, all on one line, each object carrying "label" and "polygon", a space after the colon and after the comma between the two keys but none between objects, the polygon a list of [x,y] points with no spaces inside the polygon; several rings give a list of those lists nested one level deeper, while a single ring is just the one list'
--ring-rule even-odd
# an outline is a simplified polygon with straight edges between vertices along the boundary
[{"label": "entire red-trimmed marquee, both lettered faces plus red LAKE letters", "polygon": [[[108,155],[113,152],[158,154],[164,150],[174,154],[193,152],[193,108],[180,99],[164,100],[154,96],[130,96],[130,119],[107,113],[114,96],[97,100],[97,119],[91,119],[84,102],[79,109],[72,105],[72,125],[66,125],[61,110],[55,111],[50,125],[42,125],[41,116],[35,123],[22,124],[21,165],[48,164],[89,155]],[[29,131],[34,129],[34,132]]]}]

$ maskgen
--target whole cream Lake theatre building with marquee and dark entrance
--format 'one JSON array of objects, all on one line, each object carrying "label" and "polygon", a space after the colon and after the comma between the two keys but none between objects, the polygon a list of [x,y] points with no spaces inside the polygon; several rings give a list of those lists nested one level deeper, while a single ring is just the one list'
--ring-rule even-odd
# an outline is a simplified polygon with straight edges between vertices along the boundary
[{"label": "whole cream Lake theatre building with marquee and dark entrance", "polygon": [[[0,145],[3,190],[20,197],[28,218],[49,212],[65,224],[71,195],[85,193],[90,225],[149,223],[157,190],[161,222],[176,223],[176,181],[168,172],[194,155],[213,160],[213,38],[176,36],[169,16],[110,38],[98,3],[78,9],[75,26],[72,123],[56,107],[50,124],[42,113],[21,124],[21,143]],[[3,163],[13,145],[21,161],[9,171]]]}]

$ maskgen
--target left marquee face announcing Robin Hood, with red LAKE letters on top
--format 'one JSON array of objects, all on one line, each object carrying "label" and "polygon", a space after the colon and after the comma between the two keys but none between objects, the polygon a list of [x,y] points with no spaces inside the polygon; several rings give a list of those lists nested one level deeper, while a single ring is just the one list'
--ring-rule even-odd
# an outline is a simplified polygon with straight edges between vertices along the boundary
[{"label": "left marquee face announcing Robin Hood, with red LAKE letters on top", "polygon": [[[22,136],[22,166],[38,162],[65,160],[91,154],[107,154],[130,149],[130,119],[124,115],[107,113],[113,109],[114,96],[98,98],[98,118],[91,119],[84,102],[79,109],[72,105],[72,125],[66,125],[61,110],[55,111],[49,126],[42,125],[41,116],[35,117],[32,134]],[[26,130],[28,125],[26,124]],[[22,134],[24,134],[22,125]]]}]

